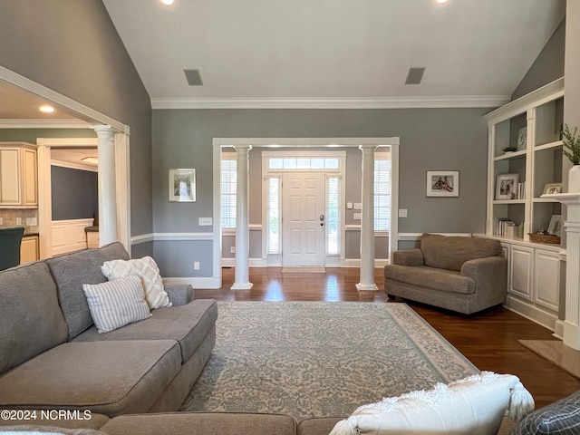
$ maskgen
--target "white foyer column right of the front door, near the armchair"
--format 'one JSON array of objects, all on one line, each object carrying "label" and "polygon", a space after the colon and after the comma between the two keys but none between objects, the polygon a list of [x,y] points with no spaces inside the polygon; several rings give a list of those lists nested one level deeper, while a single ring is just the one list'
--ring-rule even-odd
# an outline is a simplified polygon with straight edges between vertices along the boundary
[{"label": "white foyer column right of the front door, near the armchair", "polygon": [[361,216],[361,282],[357,290],[378,290],[374,284],[374,150],[376,145],[361,145],[362,150],[362,216]]}]

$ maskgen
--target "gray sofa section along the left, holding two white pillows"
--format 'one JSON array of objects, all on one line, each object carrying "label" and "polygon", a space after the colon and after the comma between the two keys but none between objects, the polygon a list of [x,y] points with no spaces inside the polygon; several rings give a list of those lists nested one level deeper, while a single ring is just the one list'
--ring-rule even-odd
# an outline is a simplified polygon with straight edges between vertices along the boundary
[{"label": "gray sofa section along the left, holding two white pillows", "polygon": [[120,243],[0,272],[0,410],[177,411],[216,343],[218,306],[166,285],[173,306],[97,333],[83,284],[107,281]]}]

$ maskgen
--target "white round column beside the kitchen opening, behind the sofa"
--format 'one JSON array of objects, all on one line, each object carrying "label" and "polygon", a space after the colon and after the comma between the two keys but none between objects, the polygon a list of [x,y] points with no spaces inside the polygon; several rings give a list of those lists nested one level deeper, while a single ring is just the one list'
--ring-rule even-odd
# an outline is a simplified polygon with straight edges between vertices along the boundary
[{"label": "white round column beside the kitchen opening, behind the sofa", "polygon": [[117,182],[115,179],[115,129],[93,127],[97,133],[99,156],[99,239],[100,245],[119,240],[117,235]]}]

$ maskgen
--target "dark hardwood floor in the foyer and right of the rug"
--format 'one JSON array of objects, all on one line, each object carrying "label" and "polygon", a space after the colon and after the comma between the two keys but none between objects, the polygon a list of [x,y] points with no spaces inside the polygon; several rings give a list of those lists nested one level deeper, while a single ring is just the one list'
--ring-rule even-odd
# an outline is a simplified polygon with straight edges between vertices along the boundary
[{"label": "dark hardwood floor in the foyer and right of the rug", "polygon": [[[251,290],[231,291],[234,268],[224,268],[223,286],[196,289],[196,299],[219,301],[361,301],[387,303],[382,290],[358,292],[358,268],[327,268],[326,274],[283,274],[280,267],[250,269]],[[375,283],[383,287],[382,269]],[[390,301],[388,303],[391,303]],[[517,375],[536,401],[536,408],[580,390],[580,380],[533,353],[517,340],[554,340],[548,329],[503,307],[471,316],[408,302],[433,328],[479,370]]]}]

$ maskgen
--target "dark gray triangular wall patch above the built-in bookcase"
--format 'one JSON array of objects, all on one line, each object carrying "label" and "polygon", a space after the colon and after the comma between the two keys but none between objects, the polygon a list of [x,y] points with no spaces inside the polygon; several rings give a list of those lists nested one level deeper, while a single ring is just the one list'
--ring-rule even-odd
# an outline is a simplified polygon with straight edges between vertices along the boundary
[{"label": "dark gray triangular wall patch above the built-in bookcase", "polygon": [[522,81],[519,82],[516,90],[511,95],[511,99],[516,100],[564,76],[564,57],[565,20],[558,26],[556,32],[554,32],[537,56],[536,61],[527,71]]}]

